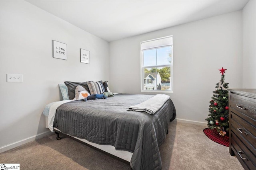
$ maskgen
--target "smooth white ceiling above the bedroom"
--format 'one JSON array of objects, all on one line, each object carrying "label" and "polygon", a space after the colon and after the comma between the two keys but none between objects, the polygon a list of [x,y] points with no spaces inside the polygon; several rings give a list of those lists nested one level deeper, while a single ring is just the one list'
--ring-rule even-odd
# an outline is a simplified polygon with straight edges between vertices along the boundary
[{"label": "smooth white ceiling above the bedroom", "polygon": [[26,0],[108,42],[242,10],[249,0]]}]

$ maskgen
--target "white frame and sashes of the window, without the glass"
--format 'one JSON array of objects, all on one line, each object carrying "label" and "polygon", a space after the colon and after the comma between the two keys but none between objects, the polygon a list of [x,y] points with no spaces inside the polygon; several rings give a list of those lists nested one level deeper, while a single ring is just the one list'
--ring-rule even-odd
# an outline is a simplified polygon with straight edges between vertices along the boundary
[{"label": "white frame and sashes of the window, without the glass", "polygon": [[[151,40],[148,40],[148,41],[155,41],[155,40],[159,40],[159,39],[164,39],[164,38],[168,38],[168,37],[172,37],[171,36],[167,36],[167,37],[161,37],[161,38],[157,38],[157,39],[151,39]],[[142,41],[140,44],[142,45],[142,43],[145,43],[145,42],[148,42],[148,41]],[[142,50],[142,48],[140,49],[140,87],[141,87],[141,92],[153,92],[153,93],[173,93],[173,89],[174,89],[174,86],[173,86],[173,44],[172,45],[166,45],[166,46],[159,46],[159,47],[152,47],[150,49],[158,49],[158,48],[162,48],[162,47],[169,47],[171,46],[171,50],[172,50],[172,62],[170,64],[166,64],[166,65],[153,65],[153,66],[143,66],[143,63],[144,63],[144,55],[143,55],[143,51],[145,50]],[[172,87],[171,90],[144,90],[144,69],[145,68],[161,68],[161,67],[166,67],[166,66],[170,66],[170,75],[171,75],[171,78],[170,78],[170,86]]]}]

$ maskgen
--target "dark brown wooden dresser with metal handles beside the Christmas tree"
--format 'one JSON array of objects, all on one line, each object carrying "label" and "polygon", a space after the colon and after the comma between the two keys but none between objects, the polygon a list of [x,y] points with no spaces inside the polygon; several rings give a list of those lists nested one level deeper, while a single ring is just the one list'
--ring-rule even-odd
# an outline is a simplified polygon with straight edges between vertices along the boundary
[{"label": "dark brown wooden dresser with metal handles beside the Christmas tree", "polygon": [[228,89],[229,152],[256,170],[256,89]]}]

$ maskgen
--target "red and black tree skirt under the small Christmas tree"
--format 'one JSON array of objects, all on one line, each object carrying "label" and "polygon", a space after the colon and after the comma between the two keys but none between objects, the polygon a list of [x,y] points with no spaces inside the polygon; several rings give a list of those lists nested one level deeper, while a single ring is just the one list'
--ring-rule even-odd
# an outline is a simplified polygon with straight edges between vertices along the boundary
[{"label": "red and black tree skirt under the small Christmas tree", "polygon": [[227,135],[224,137],[219,135],[216,129],[205,128],[203,131],[204,134],[212,141],[220,145],[224,145],[225,147],[229,147],[229,137]]}]

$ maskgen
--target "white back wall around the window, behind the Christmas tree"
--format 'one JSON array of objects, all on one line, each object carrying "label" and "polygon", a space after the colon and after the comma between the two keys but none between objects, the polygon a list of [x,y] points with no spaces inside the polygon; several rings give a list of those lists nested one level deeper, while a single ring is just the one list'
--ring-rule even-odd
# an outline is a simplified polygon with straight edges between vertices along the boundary
[{"label": "white back wall around the window, behind the Christmas tree", "polygon": [[[136,26],[136,25],[134,25]],[[110,43],[110,90],[140,92],[140,42],[173,35],[177,118],[206,122],[209,101],[226,68],[229,87],[242,88],[242,11]],[[152,93],[148,93],[152,94]]]}]

